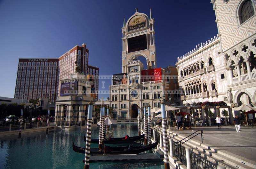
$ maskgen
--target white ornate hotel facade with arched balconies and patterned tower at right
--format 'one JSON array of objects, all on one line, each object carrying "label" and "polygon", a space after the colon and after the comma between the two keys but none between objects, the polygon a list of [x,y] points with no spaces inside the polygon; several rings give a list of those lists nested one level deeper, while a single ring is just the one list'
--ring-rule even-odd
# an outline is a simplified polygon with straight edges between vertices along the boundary
[{"label": "white ornate hotel facade with arched balconies and patterned tower at right", "polygon": [[183,105],[224,101],[231,107],[241,103],[255,107],[256,1],[211,3],[218,35],[196,45],[176,63]]}]

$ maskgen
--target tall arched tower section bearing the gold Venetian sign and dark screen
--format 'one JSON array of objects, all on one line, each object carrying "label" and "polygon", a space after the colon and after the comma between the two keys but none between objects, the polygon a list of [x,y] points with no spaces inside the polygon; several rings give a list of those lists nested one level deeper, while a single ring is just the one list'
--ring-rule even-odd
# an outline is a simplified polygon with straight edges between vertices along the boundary
[{"label": "tall arched tower section bearing the gold Venetian sign and dark screen", "polygon": [[156,67],[156,46],[154,19],[145,13],[135,13],[125,22],[122,28],[122,72],[128,72],[128,64],[139,56],[147,60],[147,68]]}]

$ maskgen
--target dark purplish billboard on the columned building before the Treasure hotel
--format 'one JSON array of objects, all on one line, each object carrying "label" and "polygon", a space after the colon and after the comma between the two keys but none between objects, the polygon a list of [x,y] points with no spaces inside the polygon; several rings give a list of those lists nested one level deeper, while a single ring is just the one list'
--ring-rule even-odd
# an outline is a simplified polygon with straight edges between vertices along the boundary
[{"label": "dark purplish billboard on the columned building before the Treasure hotel", "polygon": [[60,84],[60,96],[77,95],[77,90],[78,81]]}]

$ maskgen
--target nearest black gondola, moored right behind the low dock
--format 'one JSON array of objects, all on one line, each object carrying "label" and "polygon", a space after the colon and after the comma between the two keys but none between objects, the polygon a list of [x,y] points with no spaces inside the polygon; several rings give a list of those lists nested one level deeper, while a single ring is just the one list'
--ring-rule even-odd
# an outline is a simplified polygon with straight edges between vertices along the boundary
[{"label": "nearest black gondola, moored right behind the low dock", "polygon": [[[140,152],[151,150],[157,146],[158,142],[156,141],[153,144],[149,145],[140,145],[140,146],[133,146],[130,144],[129,146],[124,147],[110,147],[106,146],[104,148],[91,148],[90,154],[92,155],[107,155],[107,154],[139,154]],[[85,148],[78,147],[73,143],[73,150],[75,152],[79,152],[84,154]]]}]

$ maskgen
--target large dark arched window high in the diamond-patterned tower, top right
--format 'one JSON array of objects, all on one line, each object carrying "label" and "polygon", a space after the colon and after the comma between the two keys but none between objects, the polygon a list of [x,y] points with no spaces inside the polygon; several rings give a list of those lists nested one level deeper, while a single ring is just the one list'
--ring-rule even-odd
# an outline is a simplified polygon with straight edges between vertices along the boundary
[{"label": "large dark arched window high in the diamond-patterned tower, top right", "polygon": [[241,7],[241,10],[239,11],[239,15],[241,24],[243,24],[246,20],[248,20],[254,15],[254,9],[251,0],[247,0],[244,2],[244,4]]}]

